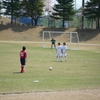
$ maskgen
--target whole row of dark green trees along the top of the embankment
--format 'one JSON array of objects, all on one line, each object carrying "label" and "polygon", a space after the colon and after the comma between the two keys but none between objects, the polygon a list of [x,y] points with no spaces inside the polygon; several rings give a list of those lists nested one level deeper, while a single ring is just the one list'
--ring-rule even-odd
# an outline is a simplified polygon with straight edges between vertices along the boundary
[{"label": "whole row of dark green trees along the top of the embankment", "polygon": [[[64,27],[65,21],[73,20],[73,16],[76,14],[74,0],[56,1],[58,3],[52,8],[53,12],[50,13],[49,17],[62,20],[62,27]],[[4,0],[0,2],[0,14],[1,9],[5,9],[2,14],[11,16],[11,24],[13,24],[13,18],[30,17],[31,24],[35,23],[36,26],[38,18],[45,16],[43,13],[44,2],[45,0]],[[96,20],[96,28],[100,28],[100,0],[87,1],[82,12],[88,20]]]}]

